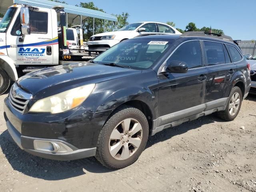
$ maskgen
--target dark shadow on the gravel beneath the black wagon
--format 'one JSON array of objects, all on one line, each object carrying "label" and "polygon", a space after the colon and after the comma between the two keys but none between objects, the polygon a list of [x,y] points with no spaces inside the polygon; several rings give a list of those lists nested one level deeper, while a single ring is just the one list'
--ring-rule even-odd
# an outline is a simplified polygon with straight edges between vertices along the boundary
[{"label": "dark shadow on the gravel beneath the black wagon", "polygon": [[[214,115],[209,115],[174,128],[167,128],[149,138],[146,147],[150,148],[153,144],[168,140],[189,130],[200,128],[203,124],[210,124],[214,121],[220,122],[222,120]],[[94,157],[73,161],[56,161],[32,156],[21,150],[14,143],[7,130],[0,135],[0,147],[14,170],[35,178],[62,180],[80,176],[86,174],[86,172],[104,173],[113,171],[102,166]]]}]

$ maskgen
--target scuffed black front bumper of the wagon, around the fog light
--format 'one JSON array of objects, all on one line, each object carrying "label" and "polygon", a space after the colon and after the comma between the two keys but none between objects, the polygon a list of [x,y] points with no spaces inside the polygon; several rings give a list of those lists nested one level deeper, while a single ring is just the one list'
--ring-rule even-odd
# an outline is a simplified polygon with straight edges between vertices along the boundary
[{"label": "scuffed black front bumper of the wagon, around the fog light", "polygon": [[[4,118],[8,131],[22,150],[53,160],[75,160],[96,154],[96,144],[102,128],[99,121],[97,123],[84,121],[86,116],[79,119],[74,112],[71,115],[66,114],[67,117],[63,114],[60,117],[59,114],[59,117],[54,117],[55,121],[52,119],[50,121],[49,118],[52,117],[47,114],[21,114],[10,106],[8,98],[4,103]],[[69,124],[65,122],[67,119]],[[38,150],[35,144],[38,141],[57,143],[69,150],[64,152],[41,150],[41,148]]]}]

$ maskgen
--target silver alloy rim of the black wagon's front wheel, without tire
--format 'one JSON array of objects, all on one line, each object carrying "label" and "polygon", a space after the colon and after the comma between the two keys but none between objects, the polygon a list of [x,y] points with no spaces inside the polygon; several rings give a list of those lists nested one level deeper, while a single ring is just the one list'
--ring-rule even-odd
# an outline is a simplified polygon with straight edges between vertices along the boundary
[{"label": "silver alloy rim of the black wagon's front wheel, without tire", "polygon": [[126,160],[138,150],[142,142],[142,126],[134,118],[127,118],[110,135],[109,152],[116,160]]}]

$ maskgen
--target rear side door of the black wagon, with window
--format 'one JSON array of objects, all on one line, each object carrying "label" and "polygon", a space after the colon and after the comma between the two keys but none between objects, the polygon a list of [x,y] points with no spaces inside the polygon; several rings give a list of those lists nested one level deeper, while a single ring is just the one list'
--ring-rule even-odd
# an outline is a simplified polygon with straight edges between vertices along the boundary
[{"label": "rear side door of the black wagon, with window", "polygon": [[227,97],[225,92],[236,72],[236,65],[231,62],[226,46],[221,42],[205,40],[204,52],[208,70],[206,103],[215,101],[215,107],[224,106]]}]

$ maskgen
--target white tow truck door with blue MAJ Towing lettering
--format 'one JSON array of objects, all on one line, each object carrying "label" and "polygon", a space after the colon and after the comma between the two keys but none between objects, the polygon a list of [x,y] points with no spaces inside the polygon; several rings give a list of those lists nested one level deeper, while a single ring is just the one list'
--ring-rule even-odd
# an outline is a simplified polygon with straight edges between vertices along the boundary
[{"label": "white tow truck door with blue MAJ Towing lettering", "polygon": [[8,56],[16,65],[53,64],[52,49],[58,37],[52,36],[50,9],[30,10],[30,35],[21,41],[20,12],[6,34]]}]

